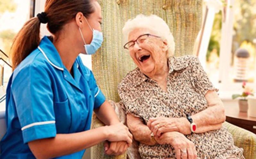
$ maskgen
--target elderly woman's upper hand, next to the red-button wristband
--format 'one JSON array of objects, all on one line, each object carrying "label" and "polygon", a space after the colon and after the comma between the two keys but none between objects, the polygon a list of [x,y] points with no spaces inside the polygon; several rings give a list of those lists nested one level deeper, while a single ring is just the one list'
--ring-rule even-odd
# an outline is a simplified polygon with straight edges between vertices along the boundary
[{"label": "elderly woman's upper hand, next to the red-button wristband", "polygon": [[190,134],[190,123],[186,118],[150,118],[147,126],[155,136],[161,136],[163,133],[178,131],[182,134]]}]

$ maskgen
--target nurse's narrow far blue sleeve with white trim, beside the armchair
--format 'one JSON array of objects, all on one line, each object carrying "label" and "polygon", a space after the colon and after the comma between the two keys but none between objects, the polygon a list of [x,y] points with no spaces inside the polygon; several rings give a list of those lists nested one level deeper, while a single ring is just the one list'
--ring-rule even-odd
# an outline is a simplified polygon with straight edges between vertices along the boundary
[{"label": "nurse's narrow far blue sleeve with white trim, beside the armchair", "polygon": [[94,95],[94,109],[98,109],[105,102],[106,98],[100,90],[99,86],[97,85],[92,71],[90,71],[89,83],[91,84],[90,87],[92,88]]}]

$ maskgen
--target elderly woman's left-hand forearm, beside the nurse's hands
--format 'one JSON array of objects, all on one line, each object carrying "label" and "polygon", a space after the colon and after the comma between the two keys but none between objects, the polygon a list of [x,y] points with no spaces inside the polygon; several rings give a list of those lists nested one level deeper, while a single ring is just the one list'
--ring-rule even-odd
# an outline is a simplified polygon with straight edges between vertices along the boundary
[{"label": "elderly woman's left-hand forearm, beside the nurse's hands", "polygon": [[139,118],[134,117],[131,114],[127,114],[127,126],[136,141],[144,143],[146,145],[155,145],[156,142],[151,139],[151,130],[148,126],[143,124]]}]

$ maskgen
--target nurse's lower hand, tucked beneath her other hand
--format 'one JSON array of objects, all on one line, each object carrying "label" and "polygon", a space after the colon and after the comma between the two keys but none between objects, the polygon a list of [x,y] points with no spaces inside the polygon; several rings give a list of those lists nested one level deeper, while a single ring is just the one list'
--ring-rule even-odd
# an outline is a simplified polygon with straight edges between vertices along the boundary
[{"label": "nurse's lower hand, tucked beneath her other hand", "polygon": [[128,148],[126,141],[108,142],[104,143],[104,150],[107,155],[121,155],[124,154]]}]

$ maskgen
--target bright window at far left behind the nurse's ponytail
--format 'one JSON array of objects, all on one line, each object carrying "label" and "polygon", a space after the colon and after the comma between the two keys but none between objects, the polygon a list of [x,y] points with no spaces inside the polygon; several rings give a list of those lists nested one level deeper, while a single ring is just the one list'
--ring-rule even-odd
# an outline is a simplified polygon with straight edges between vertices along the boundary
[{"label": "bright window at far left behind the nurse's ponytail", "polygon": [[[5,89],[12,74],[9,60],[15,35],[24,23],[34,15],[35,0],[1,0],[0,2],[0,109]],[[4,105],[4,104],[3,104]]]}]

